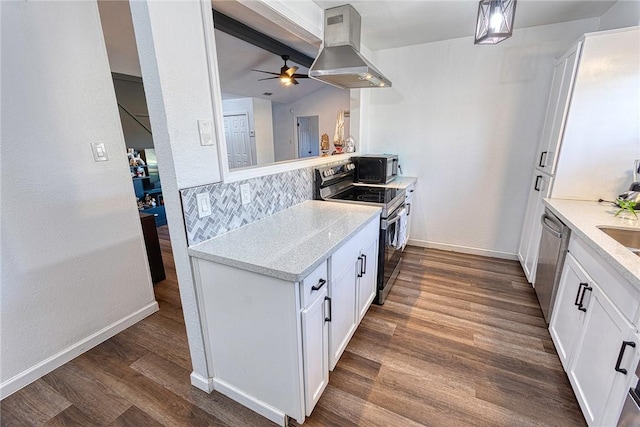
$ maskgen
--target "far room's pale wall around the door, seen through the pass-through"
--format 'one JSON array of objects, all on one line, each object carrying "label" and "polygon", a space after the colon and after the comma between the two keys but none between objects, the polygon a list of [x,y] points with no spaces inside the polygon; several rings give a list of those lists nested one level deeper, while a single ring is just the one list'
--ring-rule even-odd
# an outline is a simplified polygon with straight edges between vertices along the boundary
[{"label": "far room's pale wall around the door, seen through the pass-through", "polygon": [[[295,118],[318,116],[320,135],[329,135],[333,141],[338,110],[349,110],[349,90],[327,85],[291,104],[273,104],[274,145],[276,161],[296,158]],[[348,136],[345,122],[345,138]],[[331,146],[333,149],[333,145]]]}]

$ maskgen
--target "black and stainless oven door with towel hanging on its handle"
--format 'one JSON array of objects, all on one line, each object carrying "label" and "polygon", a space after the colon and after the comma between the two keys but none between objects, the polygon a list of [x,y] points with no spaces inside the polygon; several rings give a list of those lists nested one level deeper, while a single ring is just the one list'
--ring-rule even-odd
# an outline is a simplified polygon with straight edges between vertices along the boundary
[{"label": "black and stainless oven door with towel hanging on its handle", "polygon": [[398,246],[400,238],[400,221],[402,216],[399,215],[404,205],[398,207],[388,218],[381,221],[380,227],[380,261],[382,271],[378,277],[378,297],[377,303],[383,304],[387,294],[391,290],[393,282],[396,280],[400,271],[400,260],[402,251]]}]

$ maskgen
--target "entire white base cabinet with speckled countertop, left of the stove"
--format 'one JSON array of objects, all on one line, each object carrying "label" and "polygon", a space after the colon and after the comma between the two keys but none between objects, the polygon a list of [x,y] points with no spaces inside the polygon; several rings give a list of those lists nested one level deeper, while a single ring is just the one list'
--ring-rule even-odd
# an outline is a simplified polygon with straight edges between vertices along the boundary
[{"label": "entire white base cabinet with speckled countertop, left of the stove", "polygon": [[375,297],[380,212],[309,200],[189,248],[209,390],[304,422]]}]

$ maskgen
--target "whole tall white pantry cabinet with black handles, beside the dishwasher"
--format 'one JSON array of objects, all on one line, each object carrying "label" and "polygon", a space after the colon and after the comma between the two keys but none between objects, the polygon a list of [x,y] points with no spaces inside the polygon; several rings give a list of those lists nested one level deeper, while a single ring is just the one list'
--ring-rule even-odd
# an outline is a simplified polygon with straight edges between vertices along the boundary
[{"label": "whole tall white pantry cabinet with black handles, beside the dishwasher", "polygon": [[[613,200],[627,190],[640,158],[639,117],[638,27],[586,34],[556,63],[518,247],[529,282],[542,199]],[[536,191],[541,180],[548,186]]]}]

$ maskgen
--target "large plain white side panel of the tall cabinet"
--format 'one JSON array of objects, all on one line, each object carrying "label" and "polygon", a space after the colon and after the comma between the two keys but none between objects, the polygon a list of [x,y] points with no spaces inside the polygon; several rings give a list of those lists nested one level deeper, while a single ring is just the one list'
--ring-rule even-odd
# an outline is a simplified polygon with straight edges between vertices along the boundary
[{"label": "large plain white side panel of the tall cabinet", "polygon": [[640,28],[585,35],[552,197],[612,200],[640,157]]}]

